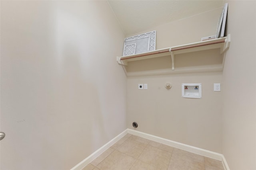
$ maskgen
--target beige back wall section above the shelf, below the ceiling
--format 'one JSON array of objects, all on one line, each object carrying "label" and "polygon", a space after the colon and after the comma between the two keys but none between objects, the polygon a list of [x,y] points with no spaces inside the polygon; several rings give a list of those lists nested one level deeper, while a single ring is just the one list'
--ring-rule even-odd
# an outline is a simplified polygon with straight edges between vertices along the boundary
[{"label": "beige back wall section above the shelf, below the ceiling", "polygon": [[[194,43],[201,41],[202,37],[215,35],[221,12],[222,8],[217,8],[182,20],[152,27],[140,33],[156,30],[156,49]],[[129,36],[132,35],[127,37]]]}]

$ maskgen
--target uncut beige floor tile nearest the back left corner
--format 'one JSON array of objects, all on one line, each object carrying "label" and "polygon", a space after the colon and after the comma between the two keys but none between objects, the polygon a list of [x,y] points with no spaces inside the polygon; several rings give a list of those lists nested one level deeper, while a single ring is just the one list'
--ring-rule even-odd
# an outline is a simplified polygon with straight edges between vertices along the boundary
[{"label": "uncut beige floor tile nearest the back left corner", "polygon": [[117,150],[137,159],[146,147],[144,143],[127,139]]}]

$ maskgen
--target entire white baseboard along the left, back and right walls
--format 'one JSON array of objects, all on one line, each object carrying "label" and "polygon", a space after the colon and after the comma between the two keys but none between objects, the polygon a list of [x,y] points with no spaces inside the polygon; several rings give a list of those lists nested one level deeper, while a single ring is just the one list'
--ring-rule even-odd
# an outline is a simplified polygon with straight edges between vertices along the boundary
[{"label": "entire white baseboard along the left, back and right walls", "polygon": [[92,154],[90,154],[90,156],[88,156],[87,158],[82,160],[79,164],[74,166],[71,170],[81,170],[87,164],[92,162],[92,160],[94,160],[97,156],[99,156],[105,150],[110,148],[119,139],[124,137],[124,135],[126,135],[127,133],[130,133],[132,135],[136,135],[136,136],[139,136],[139,137],[143,137],[143,138],[149,139],[151,141],[155,141],[155,142],[159,142],[159,143],[162,143],[162,144],[165,144],[165,145],[169,145],[169,146],[174,147],[174,148],[186,150],[188,152],[192,152],[192,153],[195,153],[195,154],[200,154],[202,156],[206,156],[206,157],[209,157],[209,158],[220,160],[220,161],[222,161],[222,164],[223,164],[225,170],[230,170],[223,154],[219,154],[219,153],[216,153],[216,152],[212,152],[210,150],[205,150],[205,149],[193,147],[193,146],[190,146],[190,145],[186,145],[186,144],[183,144],[183,143],[171,141],[171,140],[168,140],[168,139],[164,139],[164,138],[157,137],[157,136],[154,136],[154,135],[150,135],[148,133],[143,133],[143,132],[140,132],[140,131],[135,131],[135,130],[132,130],[132,129],[126,129],[125,131],[123,131],[122,133],[117,135],[114,139],[112,139],[111,141],[106,143],[104,146],[102,146],[100,149],[98,149],[95,152],[93,152]]}]

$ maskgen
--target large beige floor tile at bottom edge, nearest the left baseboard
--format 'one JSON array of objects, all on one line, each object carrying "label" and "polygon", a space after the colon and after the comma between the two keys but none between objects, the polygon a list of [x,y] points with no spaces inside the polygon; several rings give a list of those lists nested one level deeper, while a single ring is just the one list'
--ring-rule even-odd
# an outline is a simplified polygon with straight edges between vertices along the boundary
[{"label": "large beige floor tile at bottom edge, nearest the left baseboard", "polygon": [[97,168],[100,170],[129,170],[135,161],[136,159],[132,156],[128,156],[118,150],[115,150],[100,162]]}]

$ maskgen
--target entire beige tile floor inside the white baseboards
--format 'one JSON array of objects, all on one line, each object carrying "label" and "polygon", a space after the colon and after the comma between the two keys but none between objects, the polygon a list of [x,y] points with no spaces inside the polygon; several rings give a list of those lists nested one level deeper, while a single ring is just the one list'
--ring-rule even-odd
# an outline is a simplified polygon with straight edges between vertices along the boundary
[{"label": "entire beige tile floor inside the white baseboards", "polygon": [[127,134],[82,170],[224,170],[222,162]]}]

